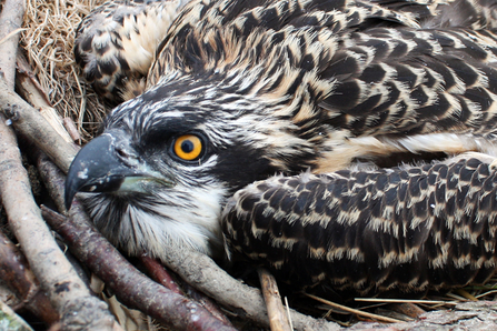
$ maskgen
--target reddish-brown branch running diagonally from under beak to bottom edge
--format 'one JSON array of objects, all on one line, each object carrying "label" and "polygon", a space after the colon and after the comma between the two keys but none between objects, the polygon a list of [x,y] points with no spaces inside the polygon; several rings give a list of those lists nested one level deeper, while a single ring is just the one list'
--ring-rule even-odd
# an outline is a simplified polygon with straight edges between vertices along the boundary
[{"label": "reddish-brown branch running diagonally from under beak to bottom edge", "polygon": [[187,298],[151,281],[135,269],[85,218],[73,202],[70,218],[42,207],[47,222],[68,242],[71,251],[130,308],[179,330],[235,330]]}]

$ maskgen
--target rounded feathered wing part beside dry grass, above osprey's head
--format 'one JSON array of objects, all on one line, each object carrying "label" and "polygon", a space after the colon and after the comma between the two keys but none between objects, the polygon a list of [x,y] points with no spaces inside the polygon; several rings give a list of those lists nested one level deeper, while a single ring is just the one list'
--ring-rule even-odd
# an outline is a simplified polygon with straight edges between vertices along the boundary
[{"label": "rounded feathered wing part beside dry grass, above osprey's head", "polygon": [[127,92],[128,81],[132,81],[128,89],[140,89],[158,44],[186,2],[118,0],[95,9],[79,24],[74,40],[76,62],[85,79],[109,101],[122,100],[119,92]]}]

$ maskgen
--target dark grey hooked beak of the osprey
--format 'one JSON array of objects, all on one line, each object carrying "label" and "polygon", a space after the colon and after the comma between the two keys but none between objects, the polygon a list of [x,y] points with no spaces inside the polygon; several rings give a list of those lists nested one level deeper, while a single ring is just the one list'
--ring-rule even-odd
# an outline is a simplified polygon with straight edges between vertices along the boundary
[{"label": "dark grey hooked beak of the osprey", "polygon": [[140,160],[123,132],[103,133],[72,160],[66,179],[66,209],[70,209],[77,192],[147,192],[150,183],[173,187],[171,179]]}]

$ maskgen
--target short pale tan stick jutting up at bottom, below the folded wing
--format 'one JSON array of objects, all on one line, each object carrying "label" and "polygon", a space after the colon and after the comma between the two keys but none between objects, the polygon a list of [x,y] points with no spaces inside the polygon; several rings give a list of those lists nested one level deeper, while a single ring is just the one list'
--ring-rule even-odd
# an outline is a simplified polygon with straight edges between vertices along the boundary
[{"label": "short pale tan stick jutting up at bottom, below the folded wing", "polygon": [[287,314],[285,313],[275,278],[264,268],[259,268],[257,271],[259,273],[264,300],[266,301],[266,307],[268,309],[271,331],[290,331],[290,324]]}]

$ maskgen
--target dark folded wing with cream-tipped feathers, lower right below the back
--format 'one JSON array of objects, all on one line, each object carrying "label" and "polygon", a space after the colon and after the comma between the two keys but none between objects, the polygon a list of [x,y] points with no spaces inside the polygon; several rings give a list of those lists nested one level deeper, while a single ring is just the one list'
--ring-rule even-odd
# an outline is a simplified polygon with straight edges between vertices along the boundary
[{"label": "dark folded wing with cream-tipped feathers, lower right below the back", "polygon": [[222,213],[231,253],[296,289],[424,291],[484,282],[496,267],[495,158],[275,177]]}]

